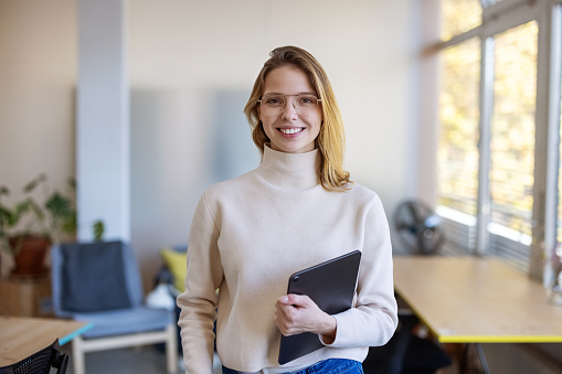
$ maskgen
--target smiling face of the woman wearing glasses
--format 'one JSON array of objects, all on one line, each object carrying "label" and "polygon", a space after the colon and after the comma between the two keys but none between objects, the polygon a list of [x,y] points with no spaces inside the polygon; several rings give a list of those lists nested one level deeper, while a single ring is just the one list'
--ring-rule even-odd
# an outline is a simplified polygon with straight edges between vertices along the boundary
[{"label": "smiling face of the woman wearing glasses", "polygon": [[322,111],[320,104],[307,117],[293,106],[295,95],[317,95],[306,74],[290,66],[275,68],[267,74],[262,96],[280,95],[286,105],[277,116],[265,116],[258,108],[259,120],[271,140],[272,149],[287,153],[303,153],[315,149],[320,132]]}]

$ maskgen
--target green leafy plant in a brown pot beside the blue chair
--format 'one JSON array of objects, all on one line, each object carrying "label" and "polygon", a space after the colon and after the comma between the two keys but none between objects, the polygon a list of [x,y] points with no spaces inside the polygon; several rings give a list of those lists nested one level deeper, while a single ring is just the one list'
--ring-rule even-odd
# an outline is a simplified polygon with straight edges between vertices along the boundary
[{"label": "green leafy plant in a brown pot beside the blue chair", "polygon": [[[33,192],[41,186],[43,200]],[[46,271],[44,259],[52,243],[72,241],[76,234],[76,183],[68,179],[68,193],[52,191],[46,175],[40,174],[23,188],[23,197],[13,205],[3,204],[9,195],[7,186],[0,186],[0,246],[13,256],[14,275],[35,276]]]}]

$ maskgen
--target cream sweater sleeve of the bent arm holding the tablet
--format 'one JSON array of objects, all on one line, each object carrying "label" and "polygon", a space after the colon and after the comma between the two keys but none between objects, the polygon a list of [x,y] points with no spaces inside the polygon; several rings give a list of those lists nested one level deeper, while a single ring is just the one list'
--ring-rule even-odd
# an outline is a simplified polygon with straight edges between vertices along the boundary
[{"label": "cream sweater sleeve of the bent arm holding the tablet", "polygon": [[356,308],[335,314],[333,348],[386,344],[397,325],[392,245],[389,223],[379,196],[367,211],[364,245],[358,276]]}]

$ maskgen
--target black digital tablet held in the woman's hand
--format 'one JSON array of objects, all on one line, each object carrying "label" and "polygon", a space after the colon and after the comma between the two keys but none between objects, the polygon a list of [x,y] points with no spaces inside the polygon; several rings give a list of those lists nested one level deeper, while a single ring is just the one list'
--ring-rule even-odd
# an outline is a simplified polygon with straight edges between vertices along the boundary
[{"label": "black digital tablet held in the woman's hand", "polygon": [[[297,271],[289,277],[287,293],[307,295],[328,314],[341,313],[352,307],[360,260],[361,252],[353,250]],[[278,362],[286,364],[322,346],[310,332],[282,336]]]}]

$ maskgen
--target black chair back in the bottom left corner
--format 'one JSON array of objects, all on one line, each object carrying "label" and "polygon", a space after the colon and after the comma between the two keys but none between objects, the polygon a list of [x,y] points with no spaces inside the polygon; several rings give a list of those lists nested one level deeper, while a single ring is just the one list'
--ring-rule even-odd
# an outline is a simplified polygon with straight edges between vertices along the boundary
[{"label": "black chair back in the bottom left corner", "polygon": [[0,374],[49,374],[51,367],[56,374],[66,373],[68,354],[61,352],[59,339],[53,344],[9,366],[0,367]]}]

